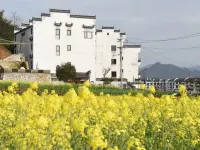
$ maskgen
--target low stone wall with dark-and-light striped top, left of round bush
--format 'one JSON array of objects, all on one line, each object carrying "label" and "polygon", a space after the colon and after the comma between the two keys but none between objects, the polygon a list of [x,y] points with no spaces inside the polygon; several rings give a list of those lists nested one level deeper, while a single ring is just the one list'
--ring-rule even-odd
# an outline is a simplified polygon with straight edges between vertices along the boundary
[{"label": "low stone wall with dark-and-light striped top, left of round bush", "polygon": [[51,82],[49,70],[1,69],[1,80]]}]

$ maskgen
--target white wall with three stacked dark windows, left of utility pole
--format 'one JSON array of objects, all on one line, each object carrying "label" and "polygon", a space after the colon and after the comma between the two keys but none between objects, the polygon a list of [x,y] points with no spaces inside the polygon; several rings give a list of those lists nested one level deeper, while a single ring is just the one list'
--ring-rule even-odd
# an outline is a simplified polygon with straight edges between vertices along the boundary
[{"label": "white wall with three stacked dark windows, left of utility pole", "polygon": [[[103,69],[110,68],[110,72],[106,77],[112,77],[112,71],[117,73],[117,77],[120,77],[120,56],[119,46],[120,43],[117,39],[120,38],[120,32],[114,32],[113,29],[102,29],[102,31],[96,33],[96,78],[103,77]],[[116,51],[111,50],[111,46],[115,45]],[[111,64],[111,59],[116,59],[116,64]]]}]

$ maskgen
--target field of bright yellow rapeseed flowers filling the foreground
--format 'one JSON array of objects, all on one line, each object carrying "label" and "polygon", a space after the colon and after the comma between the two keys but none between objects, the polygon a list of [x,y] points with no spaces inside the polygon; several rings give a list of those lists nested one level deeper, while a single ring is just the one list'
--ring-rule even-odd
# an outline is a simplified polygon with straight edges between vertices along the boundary
[{"label": "field of bright yellow rapeseed flowers filling the foreground", "polygon": [[[85,84],[64,96],[32,83],[0,93],[0,149],[200,149],[200,98],[95,96]],[[153,88],[152,92],[155,92]]]}]

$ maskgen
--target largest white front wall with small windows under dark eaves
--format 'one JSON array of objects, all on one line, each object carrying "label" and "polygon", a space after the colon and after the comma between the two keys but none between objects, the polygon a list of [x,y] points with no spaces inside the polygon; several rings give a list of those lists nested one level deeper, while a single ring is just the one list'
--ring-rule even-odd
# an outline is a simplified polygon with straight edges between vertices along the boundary
[{"label": "largest white front wall with small windows under dark eaves", "polygon": [[[95,19],[72,18],[70,13],[53,13],[51,17],[43,17],[42,21],[33,21],[33,68],[49,69],[56,72],[56,66],[71,62],[77,72],[91,70],[91,81],[95,81],[95,27],[84,29],[86,26],[95,25]],[[54,23],[62,23],[60,27]],[[73,23],[71,36],[67,36],[65,24]],[[56,29],[60,29],[60,39],[56,39]],[[92,39],[84,38],[84,31],[93,32]],[[60,46],[60,56],[56,56],[56,45]],[[67,45],[71,45],[71,51],[67,51]]]}]

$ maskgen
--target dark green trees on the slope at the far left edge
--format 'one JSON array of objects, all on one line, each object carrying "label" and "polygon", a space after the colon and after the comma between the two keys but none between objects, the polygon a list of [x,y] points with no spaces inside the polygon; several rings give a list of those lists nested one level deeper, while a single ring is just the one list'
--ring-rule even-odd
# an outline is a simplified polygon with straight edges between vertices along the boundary
[{"label": "dark green trees on the slope at the far left edge", "polygon": [[[9,43],[1,39],[13,41],[14,40],[14,25],[12,25],[11,20],[4,17],[4,10],[0,10],[0,43]],[[13,52],[13,45],[4,45],[7,49]]]}]

